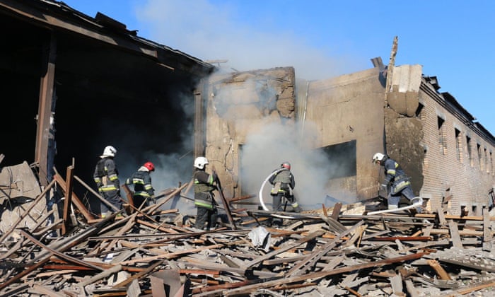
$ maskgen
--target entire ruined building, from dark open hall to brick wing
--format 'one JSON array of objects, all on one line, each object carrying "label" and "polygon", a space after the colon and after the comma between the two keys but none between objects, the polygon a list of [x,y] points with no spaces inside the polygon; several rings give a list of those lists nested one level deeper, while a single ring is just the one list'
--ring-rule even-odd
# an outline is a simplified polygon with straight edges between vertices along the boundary
[{"label": "entire ruined building, from dark open hall to brick wing", "polygon": [[375,58],[371,69],[322,81],[303,81],[292,67],[224,74],[62,2],[0,1],[0,13],[10,28],[0,81],[10,110],[22,111],[2,117],[13,127],[4,165],[34,151],[41,185],[52,165],[64,175],[74,160],[91,180],[112,144],[122,175],[156,154],[178,154],[186,157],[170,182],[187,182],[192,158],[204,154],[237,197],[256,195],[291,161],[303,204],[351,203],[380,195],[371,156],[383,151],[429,209],[447,203],[454,214],[461,206],[478,214],[491,204],[494,136],[419,65]]}]

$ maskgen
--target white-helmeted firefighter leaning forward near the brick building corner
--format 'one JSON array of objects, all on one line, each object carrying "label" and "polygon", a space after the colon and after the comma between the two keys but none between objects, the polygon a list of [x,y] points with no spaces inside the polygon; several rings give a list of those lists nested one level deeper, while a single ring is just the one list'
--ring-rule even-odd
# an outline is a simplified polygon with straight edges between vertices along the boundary
[{"label": "white-helmeted firefighter leaning forward near the brick building corner", "polygon": [[[388,191],[388,209],[397,209],[402,196],[412,202],[415,196],[412,192],[411,182],[399,163],[383,153],[375,153],[373,163],[385,168],[385,180],[383,180],[380,188],[388,189],[389,184],[391,184],[390,191]],[[417,211],[419,212],[421,209],[417,209]]]}]

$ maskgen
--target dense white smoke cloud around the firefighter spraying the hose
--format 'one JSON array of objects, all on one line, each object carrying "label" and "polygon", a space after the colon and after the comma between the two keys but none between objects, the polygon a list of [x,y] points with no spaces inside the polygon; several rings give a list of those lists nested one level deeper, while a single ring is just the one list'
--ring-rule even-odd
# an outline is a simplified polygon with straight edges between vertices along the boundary
[{"label": "dense white smoke cloud around the firefighter spraying the hose", "polygon": [[[248,192],[258,194],[263,181],[281,163],[291,163],[296,180],[294,195],[298,202],[308,208],[321,207],[327,192],[325,184],[332,175],[332,166],[322,151],[315,149],[315,130],[306,123],[304,132],[301,125],[264,125],[261,130],[250,134],[242,148],[242,183]],[[267,182],[262,192],[265,204],[271,204],[271,185]]]}]

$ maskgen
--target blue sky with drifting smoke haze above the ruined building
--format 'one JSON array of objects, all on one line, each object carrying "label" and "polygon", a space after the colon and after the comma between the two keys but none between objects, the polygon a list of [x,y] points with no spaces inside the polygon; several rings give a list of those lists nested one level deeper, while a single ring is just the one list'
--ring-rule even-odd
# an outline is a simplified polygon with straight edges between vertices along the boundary
[{"label": "blue sky with drifting smoke haze above the ruined building", "polygon": [[65,0],[138,35],[226,69],[294,66],[305,79],[388,64],[421,64],[495,134],[495,1]]}]

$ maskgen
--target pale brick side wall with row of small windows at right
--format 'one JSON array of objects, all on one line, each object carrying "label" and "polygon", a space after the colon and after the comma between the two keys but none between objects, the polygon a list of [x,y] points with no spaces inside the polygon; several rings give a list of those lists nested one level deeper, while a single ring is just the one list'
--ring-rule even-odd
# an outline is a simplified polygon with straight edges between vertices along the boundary
[{"label": "pale brick side wall with row of small windows at right", "polygon": [[442,101],[431,85],[424,84],[421,88],[419,102],[425,149],[421,196],[430,198],[432,210],[441,207],[443,199],[450,197],[447,204],[450,214],[460,214],[462,205],[470,214],[482,214],[482,206],[488,206],[488,192],[494,185],[491,157],[494,145],[472,129],[470,121],[451,112],[445,106],[448,103]]}]

